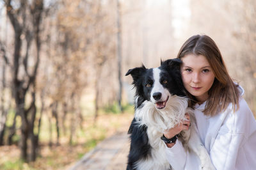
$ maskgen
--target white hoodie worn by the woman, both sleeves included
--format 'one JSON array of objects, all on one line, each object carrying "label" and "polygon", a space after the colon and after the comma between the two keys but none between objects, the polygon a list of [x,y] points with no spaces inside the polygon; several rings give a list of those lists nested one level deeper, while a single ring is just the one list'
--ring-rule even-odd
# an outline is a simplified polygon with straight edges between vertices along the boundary
[{"label": "white hoodie worn by the woman, both sleeves included", "polygon": [[[205,103],[195,106],[195,118],[200,139],[216,169],[256,169],[256,121],[245,100],[239,100],[236,112],[230,104],[212,117],[204,116],[204,108]],[[199,169],[195,153],[185,151],[178,140],[172,148],[166,147],[166,155],[173,169]]]}]

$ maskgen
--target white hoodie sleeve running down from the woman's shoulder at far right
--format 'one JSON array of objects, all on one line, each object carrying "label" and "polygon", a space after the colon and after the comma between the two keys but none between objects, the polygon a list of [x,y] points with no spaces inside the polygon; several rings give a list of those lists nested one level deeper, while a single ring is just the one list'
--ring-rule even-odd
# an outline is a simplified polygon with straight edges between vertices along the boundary
[{"label": "white hoodie sleeve running down from the woman's shoulder at far right", "polygon": [[[246,157],[240,153],[253,132],[253,124],[255,125],[253,114],[246,102],[241,99],[239,109],[228,114],[211,147],[210,157],[216,169],[237,169],[237,160]],[[243,164],[245,168],[247,162]]]}]

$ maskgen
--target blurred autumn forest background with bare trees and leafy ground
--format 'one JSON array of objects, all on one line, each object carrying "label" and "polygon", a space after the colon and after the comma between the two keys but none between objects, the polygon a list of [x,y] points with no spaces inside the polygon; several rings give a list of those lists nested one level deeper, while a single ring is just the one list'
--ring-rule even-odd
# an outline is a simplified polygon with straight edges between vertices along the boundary
[{"label": "blurred autumn forest background with bare trees and leafy ground", "polygon": [[0,169],[67,167],[127,130],[127,70],[175,58],[196,34],[255,114],[255,18],[253,0],[0,0]]}]

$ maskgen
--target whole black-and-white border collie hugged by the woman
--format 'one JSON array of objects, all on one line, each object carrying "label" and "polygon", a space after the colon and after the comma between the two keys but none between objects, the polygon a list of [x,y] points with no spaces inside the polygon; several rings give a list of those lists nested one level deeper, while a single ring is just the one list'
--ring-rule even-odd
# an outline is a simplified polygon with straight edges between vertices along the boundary
[{"label": "whole black-and-white border collie hugged by the woman", "polygon": [[[161,136],[165,130],[185,120],[186,112],[193,117],[193,112],[188,109],[180,63],[180,59],[168,59],[158,68],[141,66],[126,73],[132,75],[132,84],[136,88],[135,114],[128,132],[131,148],[127,169],[172,169]],[[191,121],[191,128],[182,131],[179,140],[198,155],[200,169],[214,169],[195,126],[195,121]]]}]

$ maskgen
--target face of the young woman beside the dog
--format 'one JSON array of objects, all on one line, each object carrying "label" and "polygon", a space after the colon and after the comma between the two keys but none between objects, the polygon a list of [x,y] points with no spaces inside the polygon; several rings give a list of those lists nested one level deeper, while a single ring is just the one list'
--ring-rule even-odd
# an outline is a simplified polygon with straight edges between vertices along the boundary
[{"label": "face of the young woman beside the dog", "polygon": [[205,56],[188,54],[181,58],[182,81],[188,92],[195,96],[199,103],[209,97],[208,91],[214,82],[214,73]]}]

